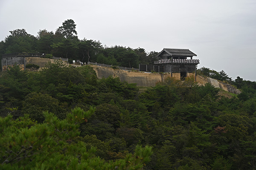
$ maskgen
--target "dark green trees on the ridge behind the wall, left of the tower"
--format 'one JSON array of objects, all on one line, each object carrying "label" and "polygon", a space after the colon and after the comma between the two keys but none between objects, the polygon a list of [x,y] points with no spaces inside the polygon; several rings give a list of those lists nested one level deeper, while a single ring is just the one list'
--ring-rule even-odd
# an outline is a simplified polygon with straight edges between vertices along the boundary
[{"label": "dark green trees on the ridge behind the wall, left of the tower", "polygon": [[62,26],[53,31],[39,30],[34,37],[25,29],[10,31],[11,35],[0,42],[0,56],[15,52],[39,52],[48,56],[79,59],[81,62],[98,62],[109,65],[139,68],[139,64],[152,64],[157,52],[147,53],[143,48],[122,46],[107,47],[96,40],[79,40],[76,36],[76,24],[65,20]]}]

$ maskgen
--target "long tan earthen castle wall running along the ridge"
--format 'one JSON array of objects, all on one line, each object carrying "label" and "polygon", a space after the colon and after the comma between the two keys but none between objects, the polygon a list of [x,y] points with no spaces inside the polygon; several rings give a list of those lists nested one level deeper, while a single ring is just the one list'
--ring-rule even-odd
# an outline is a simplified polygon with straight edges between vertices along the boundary
[{"label": "long tan earthen castle wall running along the ridge", "polygon": [[[14,59],[9,59],[5,60],[5,63],[7,62],[8,64],[13,65],[12,61]],[[19,61],[19,62],[17,62]],[[24,64],[22,63],[21,59],[15,58],[15,61],[19,64],[20,68],[23,70],[24,69]],[[54,62],[54,59],[46,59],[46,58],[39,58],[39,57],[26,57],[26,65],[27,64],[35,64],[39,65],[40,68],[44,68],[45,65],[48,63]],[[68,65],[68,62],[63,62]],[[93,69],[96,71],[97,77],[99,79],[109,76],[113,77],[119,77],[119,79],[122,82],[128,82],[128,83],[136,83],[138,86],[145,86],[145,87],[150,87],[150,86],[155,86],[156,82],[162,81],[165,77],[174,77],[175,79],[180,79],[180,73],[164,73],[164,74],[159,74],[159,73],[145,73],[145,72],[138,72],[138,71],[127,71],[127,70],[120,70],[120,69],[113,69],[113,68],[108,68],[108,67],[102,67],[102,66],[96,66],[96,65],[91,65]],[[3,70],[6,70],[6,67],[8,65],[3,65]],[[195,77],[195,73],[187,73],[187,77]],[[218,81],[216,79],[211,79],[209,77],[201,77],[199,75],[196,76],[197,82],[199,85],[205,85],[206,83],[211,83],[214,87],[216,88],[221,88],[224,91],[228,91],[230,93],[234,94],[239,94],[241,91],[239,91],[236,88],[233,88],[233,86],[225,84],[221,81]]]}]

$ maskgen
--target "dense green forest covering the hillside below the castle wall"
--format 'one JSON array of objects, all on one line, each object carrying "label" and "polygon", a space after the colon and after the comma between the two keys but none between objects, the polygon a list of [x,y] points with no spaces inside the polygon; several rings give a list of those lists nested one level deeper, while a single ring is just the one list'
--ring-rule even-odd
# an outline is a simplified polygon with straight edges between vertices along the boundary
[{"label": "dense green forest covering the hillside below the castle wall", "polygon": [[256,169],[256,82],[227,98],[193,77],[142,89],[58,61],[0,76],[6,169]]}]

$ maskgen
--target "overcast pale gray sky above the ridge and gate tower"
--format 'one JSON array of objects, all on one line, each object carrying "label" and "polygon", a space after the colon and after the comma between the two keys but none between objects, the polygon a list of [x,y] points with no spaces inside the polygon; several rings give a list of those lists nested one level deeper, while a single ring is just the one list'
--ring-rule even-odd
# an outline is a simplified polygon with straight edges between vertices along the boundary
[{"label": "overcast pale gray sky above the ridge and gate tower", "polygon": [[256,0],[0,0],[0,40],[73,19],[79,39],[160,52],[186,48],[198,68],[256,81]]}]

